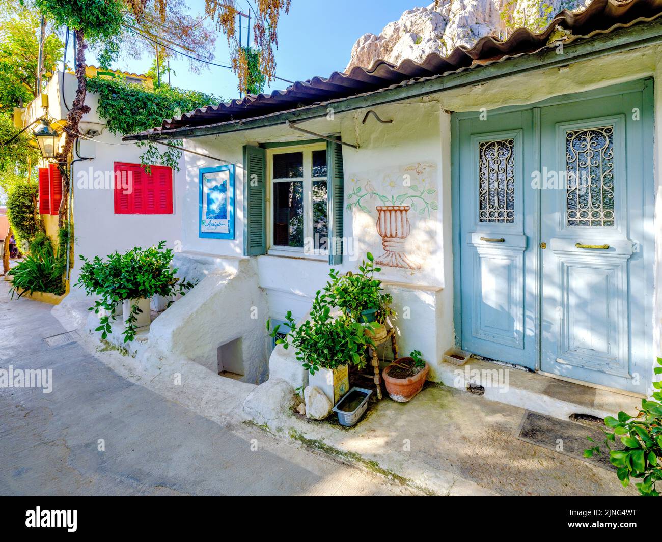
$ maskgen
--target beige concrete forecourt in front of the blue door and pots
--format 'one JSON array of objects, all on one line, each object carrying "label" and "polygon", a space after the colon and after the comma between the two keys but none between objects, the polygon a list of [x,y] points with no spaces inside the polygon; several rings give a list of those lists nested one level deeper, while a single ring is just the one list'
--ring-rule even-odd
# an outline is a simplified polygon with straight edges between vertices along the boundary
[{"label": "beige concrete forecourt in front of the blue door and pots", "polygon": [[342,430],[342,447],[360,447],[380,463],[380,454],[399,455],[403,464],[416,461],[499,495],[638,495],[634,484],[623,488],[612,471],[516,438],[525,414],[523,408],[428,383],[412,402],[375,404],[357,426]]}]

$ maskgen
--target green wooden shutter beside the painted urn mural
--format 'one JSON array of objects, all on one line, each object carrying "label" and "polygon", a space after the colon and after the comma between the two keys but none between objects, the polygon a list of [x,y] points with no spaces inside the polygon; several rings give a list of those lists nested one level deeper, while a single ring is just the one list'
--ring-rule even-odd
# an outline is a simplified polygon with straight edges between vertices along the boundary
[{"label": "green wooden shutter beside the painted urn mural", "polygon": [[340,143],[328,142],[326,144],[326,167],[328,171],[329,265],[341,265],[345,190],[342,171],[342,145]]}]

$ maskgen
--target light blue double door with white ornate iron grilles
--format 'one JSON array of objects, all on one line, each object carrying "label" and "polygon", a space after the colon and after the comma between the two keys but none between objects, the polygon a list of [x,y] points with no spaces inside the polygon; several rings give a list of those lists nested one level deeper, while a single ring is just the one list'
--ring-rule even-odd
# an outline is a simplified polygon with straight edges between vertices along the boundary
[{"label": "light blue double door with white ornate iron grilles", "polygon": [[653,326],[652,83],[453,120],[464,349],[645,393]]}]

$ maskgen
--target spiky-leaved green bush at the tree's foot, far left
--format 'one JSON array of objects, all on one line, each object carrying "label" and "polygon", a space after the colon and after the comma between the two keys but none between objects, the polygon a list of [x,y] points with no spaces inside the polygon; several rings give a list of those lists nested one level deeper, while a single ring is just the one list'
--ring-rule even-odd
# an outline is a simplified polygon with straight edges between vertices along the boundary
[{"label": "spiky-leaved green bush at the tree's foot, far left", "polygon": [[24,256],[19,265],[7,272],[12,277],[11,296],[23,296],[26,292],[46,292],[62,295],[64,286],[64,271],[66,260],[62,252],[66,244],[60,245],[58,253],[54,253],[53,244],[44,234],[38,232],[30,245],[30,253]]}]

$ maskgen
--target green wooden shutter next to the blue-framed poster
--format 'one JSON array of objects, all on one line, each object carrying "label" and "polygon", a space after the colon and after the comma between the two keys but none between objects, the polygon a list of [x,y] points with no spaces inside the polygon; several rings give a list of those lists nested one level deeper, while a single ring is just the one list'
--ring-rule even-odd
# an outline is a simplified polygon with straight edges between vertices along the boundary
[{"label": "green wooden shutter next to the blue-framed poster", "polygon": [[244,145],[244,255],[257,256],[267,251],[266,152]]}]

